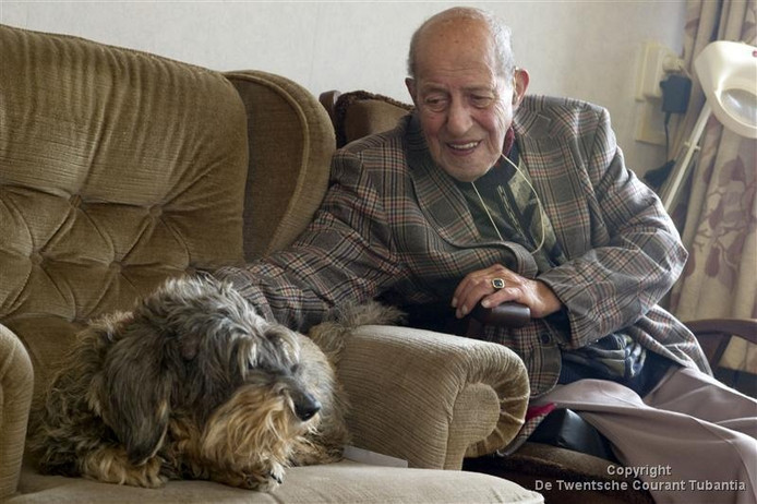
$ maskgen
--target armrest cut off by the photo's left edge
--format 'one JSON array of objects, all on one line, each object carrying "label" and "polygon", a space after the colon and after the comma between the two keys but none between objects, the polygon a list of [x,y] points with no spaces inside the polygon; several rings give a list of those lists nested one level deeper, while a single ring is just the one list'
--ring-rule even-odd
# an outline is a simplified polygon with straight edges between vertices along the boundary
[{"label": "armrest cut off by the photo's left edge", "polygon": [[19,485],[33,388],[34,371],[26,349],[0,324],[0,502]]}]

